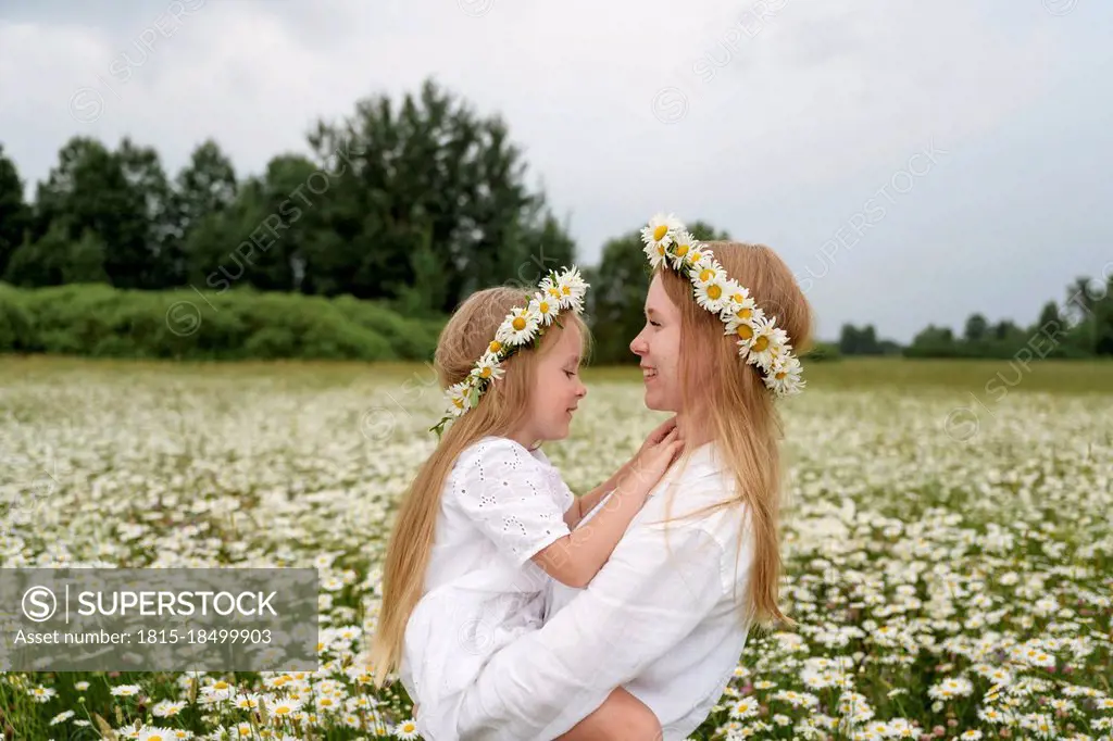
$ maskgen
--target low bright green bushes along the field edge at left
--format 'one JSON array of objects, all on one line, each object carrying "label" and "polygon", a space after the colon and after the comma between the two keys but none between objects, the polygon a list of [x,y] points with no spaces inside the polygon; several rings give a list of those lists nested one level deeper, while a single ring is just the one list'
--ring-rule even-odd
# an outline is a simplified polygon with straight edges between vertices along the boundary
[{"label": "low bright green bushes along the field edge at left", "polygon": [[351,296],[0,284],[0,353],[97,357],[429,359],[441,322]]}]

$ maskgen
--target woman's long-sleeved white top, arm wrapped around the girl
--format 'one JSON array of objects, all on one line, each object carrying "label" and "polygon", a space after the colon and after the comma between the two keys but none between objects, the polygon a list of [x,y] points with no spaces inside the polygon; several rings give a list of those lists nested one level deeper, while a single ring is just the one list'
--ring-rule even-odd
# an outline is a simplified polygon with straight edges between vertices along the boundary
[{"label": "woman's long-sleeved white top, arm wrapped around the girl", "polygon": [[670,471],[587,589],[554,586],[544,626],[491,656],[465,693],[456,738],[549,741],[623,686],[666,741],[687,739],[746,644],[752,542],[738,504],[661,521],[729,500],[733,487],[713,444]]}]

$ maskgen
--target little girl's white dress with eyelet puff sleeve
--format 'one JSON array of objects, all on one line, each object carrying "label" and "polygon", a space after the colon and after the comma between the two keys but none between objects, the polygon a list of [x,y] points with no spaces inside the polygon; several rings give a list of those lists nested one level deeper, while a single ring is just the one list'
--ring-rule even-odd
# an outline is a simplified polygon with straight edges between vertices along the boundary
[{"label": "little girl's white dress with eyelet puff sleeve", "polygon": [[573,502],[540,449],[489,436],[456,460],[398,672],[423,738],[457,739],[465,690],[492,655],[541,628],[552,579],[530,559],[569,534]]}]

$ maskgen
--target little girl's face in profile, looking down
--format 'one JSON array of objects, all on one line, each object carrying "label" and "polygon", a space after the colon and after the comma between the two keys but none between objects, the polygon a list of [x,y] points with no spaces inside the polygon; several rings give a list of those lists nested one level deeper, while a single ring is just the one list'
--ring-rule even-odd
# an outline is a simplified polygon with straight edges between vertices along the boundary
[{"label": "little girl's face in profile, looking down", "polygon": [[533,379],[529,429],[524,434],[531,442],[568,437],[572,415],[580,399],[588,395],[580,379],[583,354],[580,328],[569,323],[564,329],[549,329],[546,337],[552,333],[556,333],[556,342],[541,357]]}]

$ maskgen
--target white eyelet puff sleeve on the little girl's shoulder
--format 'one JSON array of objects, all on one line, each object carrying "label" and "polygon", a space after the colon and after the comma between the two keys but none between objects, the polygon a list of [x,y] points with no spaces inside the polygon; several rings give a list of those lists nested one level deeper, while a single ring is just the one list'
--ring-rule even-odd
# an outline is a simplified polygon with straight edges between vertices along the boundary
[{"label": "white eyelet puff sleeve on the little girl's shoulder", "polygon": [[518,443],[486,441],[455,474],[454,501],[515,564],[570,534],[561,508],[564,493]]}]

